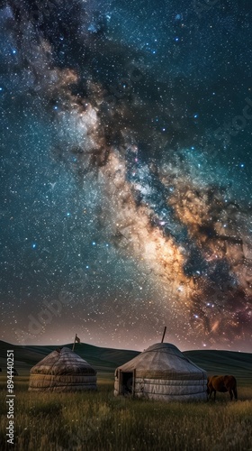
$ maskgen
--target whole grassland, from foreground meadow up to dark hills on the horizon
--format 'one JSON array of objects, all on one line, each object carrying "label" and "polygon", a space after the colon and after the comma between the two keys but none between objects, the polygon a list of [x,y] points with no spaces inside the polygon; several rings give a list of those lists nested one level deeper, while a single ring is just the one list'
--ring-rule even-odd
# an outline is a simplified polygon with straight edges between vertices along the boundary
[{"label": "whole grassland, from foreground meadow up to dark hills on the horizon", "polygon": [[[7,348],[12,348],[10,345]],[[186,352],[207,373],[232,373],[238,401],[161,402],[113,396],[113,372],[137,354],[83,345],[98,370],[97,391],[29,392],[29,369],[55,346],[14,347],[14,446],[6,444],[6,373],[0,375],[0,449],[17,451],[252,451],[252,354]],[[4,362],[5,349],[0,347]],[[88,355],[87,355],[88,354]]]}]

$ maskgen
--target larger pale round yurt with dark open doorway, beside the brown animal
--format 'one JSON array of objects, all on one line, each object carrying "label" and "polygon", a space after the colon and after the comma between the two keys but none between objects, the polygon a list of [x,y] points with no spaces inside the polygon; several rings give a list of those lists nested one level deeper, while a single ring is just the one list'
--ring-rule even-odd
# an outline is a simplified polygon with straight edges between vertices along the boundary
[{"label": "larger pale round yurt with dark open doorway, beside the brown animal", "polygon": [[207,400],[207,374],[175,345],[157,343],[115,371],[114,395],[150,400]]}]

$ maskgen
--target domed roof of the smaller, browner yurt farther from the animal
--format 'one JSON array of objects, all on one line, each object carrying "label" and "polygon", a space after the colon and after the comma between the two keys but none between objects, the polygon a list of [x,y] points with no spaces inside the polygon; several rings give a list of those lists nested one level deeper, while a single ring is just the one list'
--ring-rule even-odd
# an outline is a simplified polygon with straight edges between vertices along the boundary
[{"label": "domed roof of the smaller, browner yurt farther from the animal", "polygon": [[67,347],[61,347],[47,355],[31,368],[30,374],[95,375],[94,368]]}]

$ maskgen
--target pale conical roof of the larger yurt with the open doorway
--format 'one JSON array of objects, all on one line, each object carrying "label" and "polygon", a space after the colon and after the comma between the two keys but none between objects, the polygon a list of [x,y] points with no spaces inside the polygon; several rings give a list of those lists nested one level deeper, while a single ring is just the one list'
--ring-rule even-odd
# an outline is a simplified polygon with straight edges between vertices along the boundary
[{"label": "pale conical roof of the larger yurt with the open doorway", "polygon": [[130,362],[117,368],[117,371],[130,373],[136,371],[137,376],[162,378],[175,377],[187,379],[206,376],[206,372],[171,343],[157,343],[151,345]]}]

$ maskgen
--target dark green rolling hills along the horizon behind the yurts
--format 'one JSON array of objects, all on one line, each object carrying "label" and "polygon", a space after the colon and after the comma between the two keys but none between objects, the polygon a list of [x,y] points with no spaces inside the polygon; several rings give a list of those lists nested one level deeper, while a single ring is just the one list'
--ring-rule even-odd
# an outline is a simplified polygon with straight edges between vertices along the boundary
[{"label": "dark green rolling hills along the horizon behind the yurts", "polygon": [[[72,344],[64,346],[72,348]],[[7,349],[14,349],[14,367],[19,373],[27,374],[34,364],[37,364],[57,347],[58,345],[11,345],[0,341],[0,367],[4,373],[6,370],[6,351]],[[87,344],[76,344],[75,352],[94,366],[98,373],[113,373],[117,366],[128,362],[139,354],[138,351],[111,349]],[[238,378],[239,382],[252,385],[252,354],[212,350],[185,351],[183,354],[210,375],[231,373]]]}]

